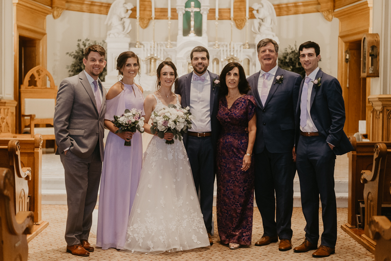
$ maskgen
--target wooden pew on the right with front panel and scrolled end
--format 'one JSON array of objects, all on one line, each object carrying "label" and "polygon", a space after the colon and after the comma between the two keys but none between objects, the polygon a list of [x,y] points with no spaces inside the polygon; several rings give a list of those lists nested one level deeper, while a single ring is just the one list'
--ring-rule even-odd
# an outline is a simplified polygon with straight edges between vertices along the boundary
[{"label": "wooden pew on the right with front panel and scrolled end", "polygon": [[[387,150],[387,146],[391,148],[391,142],[355,142],[355,138],[351,138],[351,142],[355,150],[348,155],[348,223],[341,228],[374,253],[376,243],[369,237],[369,220],[374,214],[381,213],[382,204],[390,204],[390,195],[384,193],[388,191],[384,182],[388,180],[390,184],[391,180],[391,150]],[[365,202],[365,229],[357,227],[356,216],[360,214],[358,200]]]}]

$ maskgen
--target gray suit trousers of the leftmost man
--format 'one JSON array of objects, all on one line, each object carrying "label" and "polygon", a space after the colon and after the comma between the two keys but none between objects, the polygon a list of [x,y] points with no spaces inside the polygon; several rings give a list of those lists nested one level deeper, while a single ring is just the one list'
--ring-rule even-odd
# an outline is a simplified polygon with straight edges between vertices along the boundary
[{"label": "gray suit trousers of the leftmost man", "polygon": [[65,241],[67,245],[87,240],[92,225],[92,212],[98,197],[102,174],[99,144],[87,159],[81,159],[70,150],[60,153],[65,170],[65,189],[68,205]]}]

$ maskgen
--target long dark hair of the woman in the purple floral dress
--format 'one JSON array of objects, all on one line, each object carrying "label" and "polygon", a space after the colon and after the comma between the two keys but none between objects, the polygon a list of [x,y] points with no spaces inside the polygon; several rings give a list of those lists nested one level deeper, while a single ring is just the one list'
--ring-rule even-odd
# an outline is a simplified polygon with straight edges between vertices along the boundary
[{"label": "long dark hair of the woman in the purple floral dress", "polygon": [[241,64],[232,62],[224,66],[223,70],[220,73],[219,80],[220,80],[220,90],[219,90],[219,95],[220,97],[228,95],[228,87],[227,83],[225,82],[226,75],[229,71],[232,71],[234,68],[238,68],[239,70],[239,92],[240,94],[247,94],[248,91],[251,90],[250,85],[247,82],[246,79],[246,73],[244,72],[243,67]]}]

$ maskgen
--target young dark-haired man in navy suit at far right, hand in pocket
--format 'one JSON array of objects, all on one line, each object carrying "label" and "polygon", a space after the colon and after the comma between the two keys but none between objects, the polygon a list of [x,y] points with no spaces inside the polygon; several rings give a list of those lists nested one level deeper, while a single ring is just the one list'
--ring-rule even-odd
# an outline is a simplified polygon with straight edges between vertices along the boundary
[{"label": "young dark-haired man in navy suit at far right, hand in pocket", "polygon": [[[338,80],[318,67],[320,47],[305,42],[299,47],[305,70],[296,110],[296,165],[306,221],[304,242],[295,252],[317,249],[313,257],[328,257],[337,241],[337,204],[334,191],[335,155],[353,149],[344,133],[345,105]],[[324,231],[319,239],[319,195]]]}]

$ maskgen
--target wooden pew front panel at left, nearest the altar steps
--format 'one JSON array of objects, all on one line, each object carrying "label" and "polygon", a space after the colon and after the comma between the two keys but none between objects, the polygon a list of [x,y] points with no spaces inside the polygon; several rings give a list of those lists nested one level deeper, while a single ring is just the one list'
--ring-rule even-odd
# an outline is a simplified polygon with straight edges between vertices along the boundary
[{"label": "wooden pew front panel at left, nearest the altar steps", "polygon": [[34,138],[17,134],[17,138],[0,137],[0,146],[6,146],[9,141],[18,139],[20,144],[20,159],[22,166],[31,167],[31,180],[28,181],[30,211],[34,213],[34,233],[27,237],[30,241],[38,235],[45,227],[47,221],[42,220],[42,137],[36,134]]}]

